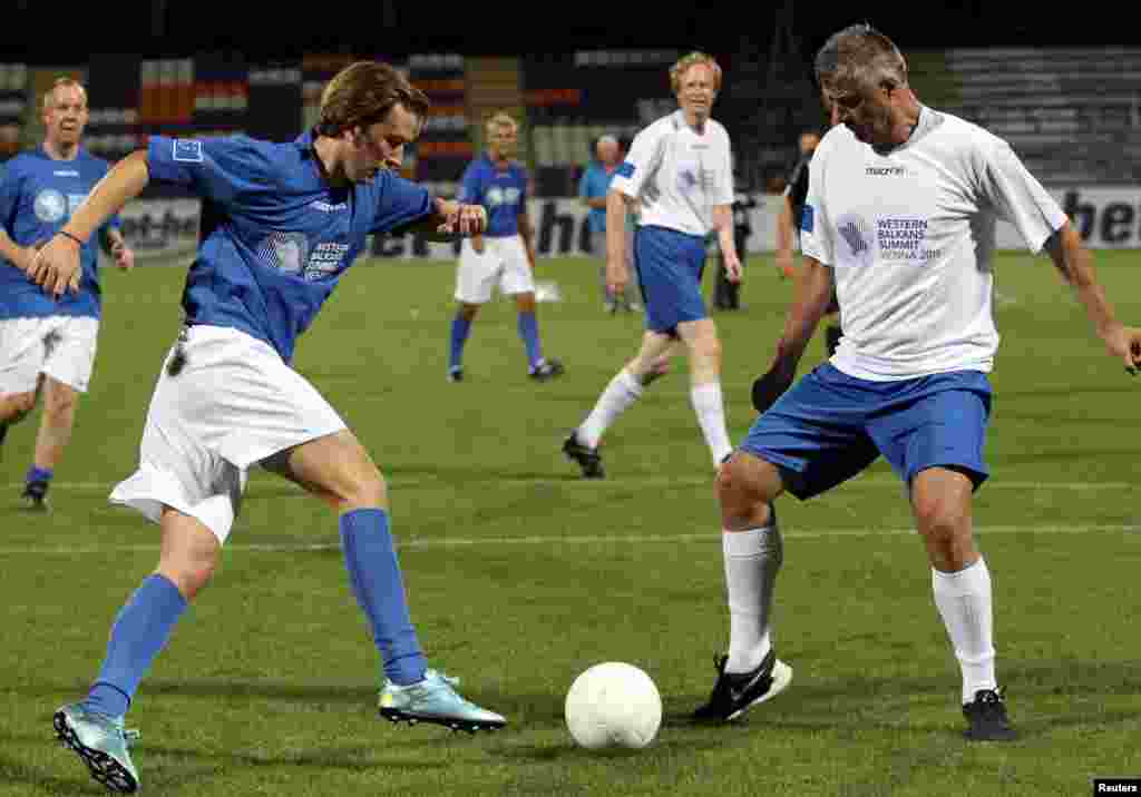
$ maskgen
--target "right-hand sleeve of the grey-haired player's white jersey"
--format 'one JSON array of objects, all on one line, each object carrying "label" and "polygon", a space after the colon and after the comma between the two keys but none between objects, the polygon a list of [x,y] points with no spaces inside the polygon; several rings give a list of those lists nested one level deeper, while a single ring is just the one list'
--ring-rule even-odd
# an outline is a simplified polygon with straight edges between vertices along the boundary
[{"label": "right-hand sleeve of the grey-haired player's white jersey", "polygon": [[1010,145],[995,139],[982,148],[980,190],[998,217],[1012,223],[1031,252],[1037,253],[1067,220],[1042,184],[1022,164]]}]

